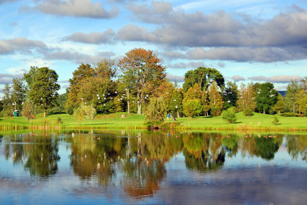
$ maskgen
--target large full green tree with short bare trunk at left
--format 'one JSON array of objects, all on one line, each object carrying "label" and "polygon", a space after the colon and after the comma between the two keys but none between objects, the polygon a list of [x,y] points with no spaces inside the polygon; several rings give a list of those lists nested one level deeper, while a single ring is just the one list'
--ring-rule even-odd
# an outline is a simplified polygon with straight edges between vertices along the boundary
[{"label": "large full green tree with short bare trunk at left", "polygon": [[38,68],[36,71],[36,81],[32,84],[28,96],[34,105],[44,110],[45,118],[47,109],[56,106],[60,90],[60,85],[57,83],[58,74],[47,67]]}]

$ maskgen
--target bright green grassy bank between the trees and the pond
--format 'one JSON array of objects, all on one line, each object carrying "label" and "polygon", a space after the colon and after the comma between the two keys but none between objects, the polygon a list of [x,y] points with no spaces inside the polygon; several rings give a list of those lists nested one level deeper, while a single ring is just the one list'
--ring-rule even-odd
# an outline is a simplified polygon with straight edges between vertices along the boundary
[{"label": "bright green grassy bank between the trees and the pond", "polygon": [[[125,114],[126,118],[121,118]],[[196,117],[196,118],[177,118],[181,126],[173,128],[187,130],[206,130],[206,131],[228,131],[228,130],[255,130],[255,131],[307,131],[307,118],[299,117],[282,117],[278,116],[278,124],[273,125],[273,115],[264,115],[254,113],[251,116],[244,116],[242,112],[236,113],[237,122],[228,124],[219,117]],[[62,121],[60,123],[58,120]],[[125,128],[125,129],[141,129],[144,126],[145,116],[136,115],[134,113],[111,113],[108,115],[97,115],[92,122],[82,122],[79,126],[78,122],[71,118],[69,114],[53,114],[47,118],[42,115],[36,115],[36,119],[29,120],[24,117],[18,118],[0,118],[0,128],[3,129],[42,129],[42,128]],[[165,119],[166,120],[166,119]],[[171,123],[172,121],[166,121]]]}]

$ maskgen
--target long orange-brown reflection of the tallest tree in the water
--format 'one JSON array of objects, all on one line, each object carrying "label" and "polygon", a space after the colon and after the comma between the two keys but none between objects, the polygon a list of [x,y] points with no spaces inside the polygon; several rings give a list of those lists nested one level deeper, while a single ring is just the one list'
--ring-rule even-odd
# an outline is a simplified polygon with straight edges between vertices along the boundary
[{"label": "long orange-brown reflection of the tallest tree in the water", "polygon": [[171,154],[166,140],[166,137],[160,138],[158,135],[138,137],[136,157],[128,158],[123,163],[123,189],[126,193],[140,198],[152,196],[160,189],[165,174],[164,159],[169,159]]}]

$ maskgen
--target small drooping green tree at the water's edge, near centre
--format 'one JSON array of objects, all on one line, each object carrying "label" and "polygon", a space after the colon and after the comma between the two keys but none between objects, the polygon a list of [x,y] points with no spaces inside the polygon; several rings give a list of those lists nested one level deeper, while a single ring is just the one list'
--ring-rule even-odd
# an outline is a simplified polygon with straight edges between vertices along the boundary
[{"label": "small drooping green tree at the water's edge, near centre", "polygon": [[163,100],[160,98],[151,98],[147,107],[147,111],[145,111],[145,121],[163,122],[166,113],[167,109],[165,109]]}]

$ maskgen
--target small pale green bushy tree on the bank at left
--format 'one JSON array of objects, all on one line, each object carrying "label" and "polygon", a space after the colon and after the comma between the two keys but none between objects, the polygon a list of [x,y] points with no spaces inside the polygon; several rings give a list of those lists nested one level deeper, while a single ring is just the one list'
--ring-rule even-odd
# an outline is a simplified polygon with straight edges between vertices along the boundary
[{"label": "small pale green bushy tree on the bank at left", "polygon": [[92,121],[95,118],[96,110],[93,105],[81,105],[73,112],[73,118],[79,122],[79,125],[83,120]]}]

